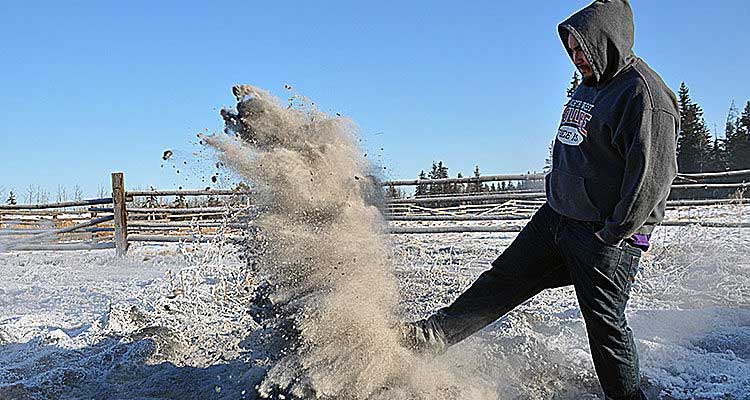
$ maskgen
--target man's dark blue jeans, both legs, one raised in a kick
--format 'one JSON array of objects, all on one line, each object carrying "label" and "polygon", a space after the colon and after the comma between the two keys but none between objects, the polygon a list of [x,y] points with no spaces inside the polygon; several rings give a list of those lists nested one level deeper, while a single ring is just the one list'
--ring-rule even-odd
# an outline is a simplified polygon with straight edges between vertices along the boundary
[{"label": "man's dark blue jeans, both legs, one raised in a kick", "polygon": [[544,289],[573,285],[605,395],[645,399],[638,354],[625,319],[641,250],[626,242],[601,242],[594,232],[602,226],[566,218],[545,204],[492,268],[430,319],[451,345]]}]

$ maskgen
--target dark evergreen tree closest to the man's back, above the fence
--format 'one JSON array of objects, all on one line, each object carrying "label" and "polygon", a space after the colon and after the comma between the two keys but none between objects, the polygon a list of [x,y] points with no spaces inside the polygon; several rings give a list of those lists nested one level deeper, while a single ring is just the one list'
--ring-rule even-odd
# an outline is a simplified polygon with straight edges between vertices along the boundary
[{"label": "dark evergreen tree closest to the man's back, above the fence", "polygon": [[683,82],[679,90],[680,132],[677,139],[677,164],[681,172],[702,172],[709,165],[711,133],[703,120],[703,109],[690,99]]}]

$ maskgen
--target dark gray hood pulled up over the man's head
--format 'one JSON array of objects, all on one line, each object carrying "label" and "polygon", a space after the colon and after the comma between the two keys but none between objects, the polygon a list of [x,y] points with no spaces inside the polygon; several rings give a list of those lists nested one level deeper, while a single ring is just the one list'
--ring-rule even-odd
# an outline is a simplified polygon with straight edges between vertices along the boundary
[{"label": "dark gray hood pulled up over the man's head", "polygon": [[568,34],[578,40],[598,86],[612,79],[635,58],[633,10],[628,0],[597,0],[568,17],[557,30],[571,59]]}]

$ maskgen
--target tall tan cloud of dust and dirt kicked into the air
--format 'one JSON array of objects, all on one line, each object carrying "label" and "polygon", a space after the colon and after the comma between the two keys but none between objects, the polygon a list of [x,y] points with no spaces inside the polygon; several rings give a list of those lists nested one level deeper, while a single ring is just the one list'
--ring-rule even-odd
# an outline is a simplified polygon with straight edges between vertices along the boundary
[{"label": "tall tan cloud of dust and dirt kicked into the air", "polygon": [[258,270],[298,340],[269,371],[261,396],[300,398],[494,398],[450,367],[415,357],[394,330],[399,301],[389,261],[381,190],[352,121],[314,106],[286,107],[236,86],[227,133],[204,140],[254,185],[263,212]]}]

